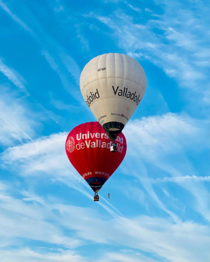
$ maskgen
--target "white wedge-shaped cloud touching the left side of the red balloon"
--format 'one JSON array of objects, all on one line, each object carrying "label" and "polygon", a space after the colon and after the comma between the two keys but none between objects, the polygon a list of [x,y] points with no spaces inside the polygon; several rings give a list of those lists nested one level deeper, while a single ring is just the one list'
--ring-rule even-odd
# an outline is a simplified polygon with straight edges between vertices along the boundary
[{"label": "white wedge-shaped cloud touching the left side of the red balloon", "polygon": [[[67,133],[41,137],[23,145],[8,148],[1,154],[2,168],[15,170],[23,177],[62,183],[92,199],[92,191],[69,162],[65,153]],[[87,191],[88,190],[88,191]]]}]

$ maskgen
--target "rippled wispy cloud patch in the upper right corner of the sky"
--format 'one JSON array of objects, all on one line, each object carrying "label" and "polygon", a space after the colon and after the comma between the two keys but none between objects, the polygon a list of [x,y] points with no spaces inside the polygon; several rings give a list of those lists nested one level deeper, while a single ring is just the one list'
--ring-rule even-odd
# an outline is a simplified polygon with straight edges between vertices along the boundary
[{"label": "rippled wispy cloud patch in the upper right corner of the sky", "polygon": [[[117,40],[118,46],[128,55],[150,61],[161,68],[167,76],[175,79],[179,88],[194,92],[196,95],[196,99],[193,100],[194,106],[194,103],[200,104],[200,101],[207,102],[206,62],[209,54],[207,35],[204,35],[208,22],[206,19],[200,19],[200,13],[206,12],[208,17],[208,11],[200,2],[194,2],[193,5],[195,9],[189,9],[187,3],[182,4],[179,0],[170,4],[162,1],[161,15],[157,14],[154,18],[155,14],[146,8],[147,16],[151,16],[147,17],[144,23],[136,23],[130,18],[124,19],[129,14],[127,10],[124,12],[116,10],[107,16],[93,12],[89,15],[113,30],[110,37]],[[177,6],[180,8],[174,8]],[[197,9],[201,12],[195,11]],[[205,55],[201,57],[200,53]]]}]

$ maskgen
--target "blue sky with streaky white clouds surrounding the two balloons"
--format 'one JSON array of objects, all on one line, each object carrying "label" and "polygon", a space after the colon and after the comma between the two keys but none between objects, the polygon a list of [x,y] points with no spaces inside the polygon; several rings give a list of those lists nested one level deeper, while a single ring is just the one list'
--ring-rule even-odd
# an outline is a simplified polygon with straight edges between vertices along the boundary
[{"label": "blue sky with streaky white clouds surrounding the two balloons", "polygon": [[[208,5],[0,0],[3,262],[209,260]],[[96,121],[79,79],[109,52],[136,59],[148,84],[93,202],[64,143]]]}]

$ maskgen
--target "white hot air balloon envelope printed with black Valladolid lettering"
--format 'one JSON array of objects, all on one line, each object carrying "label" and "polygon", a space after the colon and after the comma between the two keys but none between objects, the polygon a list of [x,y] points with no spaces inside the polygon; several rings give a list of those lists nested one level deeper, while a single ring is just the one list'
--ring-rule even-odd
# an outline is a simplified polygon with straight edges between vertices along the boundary
[{"label": "white hot air balloon envelope printed with black Valladolid lettering", "polygon": [[111,140],[116,139],[142,101],[146,85],[142,66],[119,53],[94,57],[80,77],[83,98]]}]

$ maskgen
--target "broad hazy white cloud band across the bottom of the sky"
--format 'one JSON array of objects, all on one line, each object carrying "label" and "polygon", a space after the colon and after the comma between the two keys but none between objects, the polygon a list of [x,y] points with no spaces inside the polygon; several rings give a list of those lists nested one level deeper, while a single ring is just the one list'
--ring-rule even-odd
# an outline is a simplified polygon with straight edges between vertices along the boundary
[{"label": "broad hazy white cloud band across the bottom of the sky", "polygon": [[[16,199],[7,192],[0,195],[1,236],[7,238],[8,243],[15,238],[25,241],[24,244],[17,243],[15,249],[10,247],[10,252],[7,251],[7,246],[2,247],[1,253],[4,254],[5,260],[8,259],[6,261],[11,261],[9,259],[13,258],[12,254],[16,255],[15,261],[35,261],[38,257],[41,261],[48,261],[44,260],[46,257],[52,261],[53,257],[55,261],[66,261],[65,258],[84,261],[85,258],[78,256],[74,249],[92,243],[104,245],[101,256],[97,259],[101,262],[114,262],[117,259],[126,261],[128,257],[127,251],[115,251],[112,257],[112,252],[106,251],[109,245],[123,245],[125,249],[130,249],[129,254],[133,259],[131,261],[153,261],[146,254],[141,254],[142,250],[150,252],[153,257],[167,258],[173,262],[200,262],[208,259],[207,225],[191,221],[174,223],[169,219],[148,216],[125,218],[114,211],[116,218],[111,219],[107,215],[104,216],[100,209],[62,205],[55,203],[55,199],[50,201],[50,197],[42,198],[40,205],[39,196],[29,191],[23,193],[24,196],[39,201],[26,201],[24,197]],[[27,239],[57,244],[59,249],[53,254],[48,245],[45,252],[30,249],[25,250],[23,256],[22,245],[27,243]],[[37,248],[39,245],[42,246],[38,244]],[[62,250],[63,248],[66,251]]]}]

